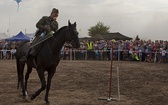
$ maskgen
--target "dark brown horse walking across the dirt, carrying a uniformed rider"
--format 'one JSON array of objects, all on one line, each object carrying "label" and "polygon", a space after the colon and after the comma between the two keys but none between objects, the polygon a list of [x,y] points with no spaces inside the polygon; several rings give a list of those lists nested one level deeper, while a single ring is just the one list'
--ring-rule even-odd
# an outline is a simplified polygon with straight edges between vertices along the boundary
[{"label": "dark brown horse walking across the dirt, carrying a uniformed rider", "polygon": [[[43,90],[46,89],[45,93],[45,102],[47,105],[50,104],[48,100],[48,94],[51,85],[51,79],[56,72],[56,67],[60,62],[60,51],[65,42],[71,44],[72,48],[79,48],[79,38],[78,31],[76,29],[76,22],[71,24],[68,21],[68,26],[61,27],[52,37],[47,39],[42,45],[41,49],[35,57],[29,56],[27,62],[23,63],[20,61],[20,58],[25,56],[28,52],[28,49],[31,47],[30,42],[22,43],[16,51],[16,66],[17,66],[17,76],[18,76],[18,85],[19,89],[21,84],[22,97],[26,98],[27,95],[27,81],[29,75],[32,72],[32,68],[35,68],[40,78],[41,88],[38,89],[34,94],[30,96],[31,100],[34,100]],[[24,67],[27,64],[27,72],[24,76]],[[47,72],[47,83],[45,80],[45,72]]]}]

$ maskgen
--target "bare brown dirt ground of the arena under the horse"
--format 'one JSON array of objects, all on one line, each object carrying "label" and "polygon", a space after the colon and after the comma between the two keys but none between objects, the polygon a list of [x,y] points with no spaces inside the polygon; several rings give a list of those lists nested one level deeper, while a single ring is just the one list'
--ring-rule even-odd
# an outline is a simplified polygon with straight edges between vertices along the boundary
[{"label": "bare brown dirt ground of the arena under the horse", "polygon": [[[146,62],[113,62],[112,97],[117,97],[116,68],[120,73],[121,101],[107,102],[110,61],[62,60],[52,79],[51,105],[166,105],[168,103],[168,64]],[[17,90],[15,60],[0,60],[0,104],[44,105],[45,91],[27,101]],[[28,94],[40,88],[36,70],[30,75]]]}]

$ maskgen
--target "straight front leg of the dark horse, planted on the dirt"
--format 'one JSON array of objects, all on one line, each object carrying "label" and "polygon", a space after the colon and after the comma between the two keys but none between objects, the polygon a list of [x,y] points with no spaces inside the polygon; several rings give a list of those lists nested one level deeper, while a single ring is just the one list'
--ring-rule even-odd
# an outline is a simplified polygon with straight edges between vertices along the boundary
[{"label": "straight front leg of the dark horse, planted on the dirt", "polygon": [[50,71],[48,71],[47,88],[46,88],[46,94],[45,94],[46,104],[50,103],[48,101],[48,94],[49,94],[49,90],[50,90],[50,86],[51,86],[51,79],[52,79],[53,75],[55,74],[55,71],[56,71],[56,69],[51,69]]}]

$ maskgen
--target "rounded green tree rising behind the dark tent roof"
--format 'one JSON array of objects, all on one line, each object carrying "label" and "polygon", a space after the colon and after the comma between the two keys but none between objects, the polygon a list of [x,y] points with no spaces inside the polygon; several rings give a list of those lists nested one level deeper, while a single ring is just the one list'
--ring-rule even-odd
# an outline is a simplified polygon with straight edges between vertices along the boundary
[{"label": "rounded green tree rising behind the dark tent roof", "polygon": [[109,33],[109,26],[105,26],[102,22],[98,22],[95,26],[92,26],[88,29],[89,36],[95,37],[96,35],[105,35]]}]

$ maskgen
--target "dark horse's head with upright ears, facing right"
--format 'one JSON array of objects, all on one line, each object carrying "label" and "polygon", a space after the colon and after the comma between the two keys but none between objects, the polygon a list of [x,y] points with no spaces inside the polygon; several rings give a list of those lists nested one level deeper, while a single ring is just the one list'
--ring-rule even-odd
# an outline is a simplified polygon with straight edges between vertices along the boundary
[{"label": "dark horse's head with upright ears, facing right", "polygon": [[80,47],[78,34],[79,33],[76,30],[76,22],[74,24],[71,24],[70,21],[68,21],[66,42],[70,42],[73,48]]}]

